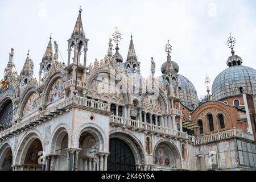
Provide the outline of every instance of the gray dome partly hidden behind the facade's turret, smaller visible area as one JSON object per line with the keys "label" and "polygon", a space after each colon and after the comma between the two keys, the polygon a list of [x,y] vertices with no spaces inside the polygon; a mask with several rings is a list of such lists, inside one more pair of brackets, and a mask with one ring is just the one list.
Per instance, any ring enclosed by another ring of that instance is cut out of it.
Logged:
{"label": "gray dome partly hidden behind the facade's turret, smaller visible area", "polygon": [[199,103],[195,86],[182,75],[178,76],[178,82],[181,103],[191,110],[195,109]]}

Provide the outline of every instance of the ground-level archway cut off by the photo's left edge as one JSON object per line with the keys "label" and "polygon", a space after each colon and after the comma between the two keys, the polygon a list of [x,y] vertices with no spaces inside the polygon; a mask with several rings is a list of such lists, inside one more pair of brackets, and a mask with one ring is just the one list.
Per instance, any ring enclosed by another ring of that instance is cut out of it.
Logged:
{"label": "ground-level archway cut off by the photo's left edge", "polygon": [[13,152],[9,144],[0,148],[0,171],[13,171]]}

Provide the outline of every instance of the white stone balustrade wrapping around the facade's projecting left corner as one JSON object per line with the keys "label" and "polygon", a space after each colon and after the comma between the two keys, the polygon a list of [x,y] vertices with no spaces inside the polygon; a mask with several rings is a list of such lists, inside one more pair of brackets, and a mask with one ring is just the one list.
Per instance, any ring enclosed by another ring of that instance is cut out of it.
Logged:
{"label": "white stone balustrade wrapping around the facade's projecting left corner", "polygon": [[91,108],[98,109],[101,111],[110,111],[110,104],[105,104],[102,102],[89,100],[88,98],[73,96],[63,102],[60,102],[60,104],[57,104],[53,107],[50,107],[49,109],[46,109],[46,110],[40,112],[39,114],[35,115],[34,117],[31,117],[29,119],[24,119],[23,121],[16,123],[9,129],[2,131],[0,133],[0,138],[12,133],[13,131],[22,129],[22,127],[25,127],[26,125],[29,125],[32,122],[38,121],[40,118],[46,117],[47,115],[51,115],[52,113],[54,113],[60,109],[64,109],[65,107],[70,106],[72,104],[76,104],[76,105],[84,106],[84,107],[91,107]]}

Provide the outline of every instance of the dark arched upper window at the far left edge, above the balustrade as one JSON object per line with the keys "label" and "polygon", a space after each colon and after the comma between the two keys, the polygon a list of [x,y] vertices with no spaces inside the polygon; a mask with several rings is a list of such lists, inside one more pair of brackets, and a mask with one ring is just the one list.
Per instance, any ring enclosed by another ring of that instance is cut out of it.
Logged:
{"label": "dark arched upper window at the far left edge, above the balustrade", "polygon": [[13,121],[13,102],[7,100],[0,107],[0,126],[8,127]]}

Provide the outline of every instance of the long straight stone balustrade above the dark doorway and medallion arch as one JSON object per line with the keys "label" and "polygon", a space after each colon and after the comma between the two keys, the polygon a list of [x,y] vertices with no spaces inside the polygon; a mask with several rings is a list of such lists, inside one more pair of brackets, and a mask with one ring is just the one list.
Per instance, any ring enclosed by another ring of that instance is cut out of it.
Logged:
{"label": "long straight stone balustrade above the dark doorway and medallion arch", "polygon": [[135,121],[135,120],[128,119],[128,118],[117,117],[115,115],[111,115],[110,122],[116,123],[119,125],[123,125],[125,127],[131,127],[134,129],[152,131],[152,132],[159,133],[159,134],[171,135],[173,137],[188,139],[191,142],[195,142],[195,138],[193,136],[189,136],[187,133],[177,131],[177,130],[168,129],[168,128],[162,127],[162,126],[156,126],[156,125],[152,125],[149,123],[144,123],[141,121]]}

